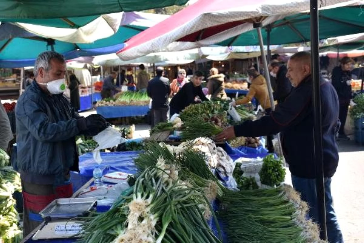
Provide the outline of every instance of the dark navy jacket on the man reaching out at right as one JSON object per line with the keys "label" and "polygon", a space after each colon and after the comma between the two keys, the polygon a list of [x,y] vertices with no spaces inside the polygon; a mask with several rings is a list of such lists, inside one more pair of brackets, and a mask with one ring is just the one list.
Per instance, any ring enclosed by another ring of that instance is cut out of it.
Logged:
{"label": "dark navy jacket on the man reaching out at right", "polygon": [[[321,119],[324,176],[332,177],[339,162],[335,135],[340,127],[339,101],[334,87],[321,81]],[[312,79],[305,78],[276,110],[257,121],[234,126],[237,137],[258,137],[281,132],[284,157],[292,175],[316,178],[313,156]]]}

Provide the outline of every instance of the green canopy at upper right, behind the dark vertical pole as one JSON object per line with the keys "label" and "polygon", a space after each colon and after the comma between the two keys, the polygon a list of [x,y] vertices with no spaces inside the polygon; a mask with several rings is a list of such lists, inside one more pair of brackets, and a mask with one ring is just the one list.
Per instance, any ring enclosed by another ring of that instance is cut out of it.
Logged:
{"label": "green canopy at upper right, behind the dark vertical pole", "polygon": [[[363,9],[361,6],[323,9],[318,12],[319,38],[327,39],[335,36],[350,35],[364,32]],[[270,44],[288,44],[310,41],[310,15],[298,13],[285,17],[263,27],[271,28]],[[267,31],[262,31],[264,44],[267,44]],[[254,46],[258,45],[256,30],[226,39],[221,46]]]}

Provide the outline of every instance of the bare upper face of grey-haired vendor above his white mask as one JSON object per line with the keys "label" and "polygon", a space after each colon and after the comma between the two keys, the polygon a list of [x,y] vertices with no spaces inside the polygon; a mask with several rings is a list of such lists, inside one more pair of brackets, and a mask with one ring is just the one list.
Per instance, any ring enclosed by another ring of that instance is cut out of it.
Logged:
{"label": "bare upper face of grey-haired vendor above his white mask", "polygon": [[57,79],[64,78],[66,74],[66,63],[60,62],[57,59],[51,59],[51,68],[46,71],[39,68],[37,82],[48,83]]}

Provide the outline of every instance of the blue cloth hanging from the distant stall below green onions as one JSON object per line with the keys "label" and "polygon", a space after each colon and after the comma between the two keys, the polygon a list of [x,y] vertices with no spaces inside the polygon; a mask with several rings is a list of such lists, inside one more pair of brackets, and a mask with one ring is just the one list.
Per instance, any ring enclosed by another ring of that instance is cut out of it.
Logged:
{"label": "blue cloth hanging from the distant stall below green onions", "polygon": [[97,114],[105,118],[134,117],[146,115],[149,106],[99,106],[96,108]]}

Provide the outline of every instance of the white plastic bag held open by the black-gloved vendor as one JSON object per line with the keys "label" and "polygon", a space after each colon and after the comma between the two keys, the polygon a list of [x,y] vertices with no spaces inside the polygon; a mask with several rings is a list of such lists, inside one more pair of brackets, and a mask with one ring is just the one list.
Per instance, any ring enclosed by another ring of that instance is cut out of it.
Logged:
{"label": "white plastic bag held open by the black-gloved vendor", "polygon": [[101,164],[101,156],[100,156],[100,149],[107,149],[112,148],[118,144],[122,144],[123,142],[126,142],[126,139],[121,136],[121,133],[119,130],[112,128],[109,126],[96,136],[92,137],[93,140],[95,140],[99,146],[95,148],[95,150],[92,152],[94,156],[94,160]]}

